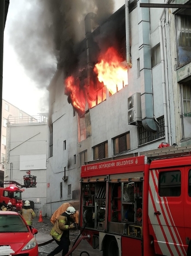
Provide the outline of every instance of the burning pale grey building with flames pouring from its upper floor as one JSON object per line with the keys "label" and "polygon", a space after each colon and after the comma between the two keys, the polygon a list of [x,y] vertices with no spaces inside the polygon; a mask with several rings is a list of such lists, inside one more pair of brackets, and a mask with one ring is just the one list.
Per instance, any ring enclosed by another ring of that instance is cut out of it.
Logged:
{"label": "burning pale grey building with flames pouring from its upper floor", "polygon": [[[170,2],[190,1],[165,1]],[[48,88],[49,216],[63,202],[78,200],[83,164],[132,156],[162,143],[191,143],[189,12],[141,8],[140,1],[130,0],[93,31],[88,24],[95,15],[85,17],[80,61],[71,70],[58,70]],[[115,71],[123,67],[119,82],[111,70],[111,79],[105,79],[105,64]]]}

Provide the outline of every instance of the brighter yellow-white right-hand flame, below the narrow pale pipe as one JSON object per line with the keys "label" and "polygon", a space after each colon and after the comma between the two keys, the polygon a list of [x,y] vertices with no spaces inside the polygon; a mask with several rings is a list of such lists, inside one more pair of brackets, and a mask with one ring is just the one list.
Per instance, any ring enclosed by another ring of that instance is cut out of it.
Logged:
{"label": "brighter yellow-white right-hand flame, below the narrow pale pipe", "polygon": [[110,47],[105,54],[100,56],[100,61],[94,67],[99,82],[103,82],[111,94],[118,92],[128,84],[127,67],[122,67],[122,61],[117,50]]}

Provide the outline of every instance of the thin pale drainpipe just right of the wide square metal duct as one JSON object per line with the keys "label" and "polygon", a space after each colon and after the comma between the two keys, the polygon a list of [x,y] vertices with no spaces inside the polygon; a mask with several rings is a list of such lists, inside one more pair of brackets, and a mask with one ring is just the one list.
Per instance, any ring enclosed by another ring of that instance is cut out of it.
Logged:
{"label": "thin pale drainpipe just right of the wide square metal duct", "polygon": [[[165,4],[168,3],[168,0],[165,1]],[[163,88],[163,108],[164,108],[164,123],[165,123],[165,142],[172,144],[172,135],[171,135],[171,126],[170,126],[170,107],[169,104],[166,104],[166,98],[169,95],[168,92],[168,77],[165,77],[165,62],[167,60],[166,56],[166,47],[165,47],[165,29],[164,27],[164,10],[159,18],[159,35],[160,35],[160,54],[161,54],[161,65],[162,65],[162,88]],[[163,19],[163,21],[162,21]],[[163,22],[163,24],[162,24]],[[164,60],[165,59],[165,60]],[[168,71],[166,71],[168,72]],[[167,75],[167,74],[166,74]],[[168,97],[169,98],[169,97]],[[169,126],[168,126],[169,125]]]}

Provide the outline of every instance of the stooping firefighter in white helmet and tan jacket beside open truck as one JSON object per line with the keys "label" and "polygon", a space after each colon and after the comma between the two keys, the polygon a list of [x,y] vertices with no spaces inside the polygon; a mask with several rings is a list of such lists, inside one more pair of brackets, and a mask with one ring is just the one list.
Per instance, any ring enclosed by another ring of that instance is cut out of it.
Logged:
{"label": "stooping firefighter in white helmet and tan jacket beside open truck", "polygon": [[74,229],[77,224],[74,222],[73,214],[76,213],[74,207],[69,206],[67,210],[59,215],[58,219],[55,222],[55,225],[52,227],[50,231],[50,235],[53,240],[56,241],[58,247],[56,247],[50,254],[47,256],[53,256],[62,251],[62,256],[68,253],[70,238],[69,238],[69,230]]}

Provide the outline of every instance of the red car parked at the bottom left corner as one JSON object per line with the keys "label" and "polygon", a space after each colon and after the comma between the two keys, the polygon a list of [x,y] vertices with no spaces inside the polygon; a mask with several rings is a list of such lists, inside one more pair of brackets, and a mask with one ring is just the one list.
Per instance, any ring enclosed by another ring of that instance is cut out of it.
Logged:
{"label": "red car parked at the bottom left corner", "polygon": [[1,246],[10,246],[15,252],[11,255],[38,256],[38,244],[34,237],[37,233],[37,229],[31,232],[19,213],[0,211],[0,254]]}

